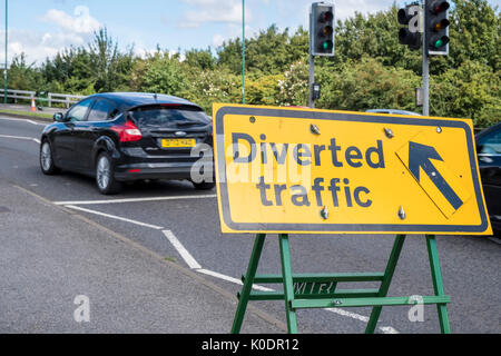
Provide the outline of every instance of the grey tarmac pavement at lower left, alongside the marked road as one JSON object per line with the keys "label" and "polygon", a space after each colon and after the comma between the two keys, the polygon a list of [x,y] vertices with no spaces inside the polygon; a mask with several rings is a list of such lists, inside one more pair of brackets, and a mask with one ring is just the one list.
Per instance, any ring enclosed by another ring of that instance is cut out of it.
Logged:
{"label": "grey tarmac pavement at lower left, alongside the marked road", "polygon": [[[237,299],[84,216],[0,180],[0,334],[226,334]],[[284,333],[249,305],[243,333]]]}

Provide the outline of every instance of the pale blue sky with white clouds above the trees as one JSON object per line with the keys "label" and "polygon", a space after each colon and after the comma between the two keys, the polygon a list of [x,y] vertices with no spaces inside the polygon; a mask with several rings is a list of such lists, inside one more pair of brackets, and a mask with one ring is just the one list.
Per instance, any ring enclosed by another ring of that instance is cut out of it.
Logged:
{"label": "pale blue sky with white clouds above the trees", "polygon": [[[40,63],[62,49],[86,46],[94,31],[106,27],[121,49],[134,44],[145,56],[163,50],[215,50],[223,41],[242,37],[242,0],[0,0],[0,61],[4,62],[8,1],[8,57],[23,52]],[[307,28],[312,0],[245,0],[246,37],[275,23],[294,32]],[[333,2],[326,0],[326,2]],[[337,0],[336,19],[355,11],[374,13],[400,0]],[[409,2],[409,1],[407,1]],[[500,7],[501,0],[490,0]],[[2,66],[3,67],[3,66]]]}

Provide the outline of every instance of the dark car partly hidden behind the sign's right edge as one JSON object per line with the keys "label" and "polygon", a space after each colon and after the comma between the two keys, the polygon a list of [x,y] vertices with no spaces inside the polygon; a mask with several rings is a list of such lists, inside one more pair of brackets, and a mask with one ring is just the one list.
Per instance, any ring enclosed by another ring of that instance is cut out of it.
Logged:
{"label": "dark car partly hidden behind the sign's right edge", "polygon": [[475,136],[483,194],[495,235],[501,235],[501,122]]}

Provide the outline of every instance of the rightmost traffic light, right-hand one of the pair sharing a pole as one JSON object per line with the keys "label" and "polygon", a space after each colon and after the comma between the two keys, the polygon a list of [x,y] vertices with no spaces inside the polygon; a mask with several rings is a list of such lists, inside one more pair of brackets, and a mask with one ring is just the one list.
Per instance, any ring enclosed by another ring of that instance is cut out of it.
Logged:
{"label": "rightmost traffic light, right-hand one of the pair sharing a pole", "polygon": [[429,56],[449,55],[449,24],[448,10],[450,8],[448,1],[428,0],[425,18],[425,46]]}

